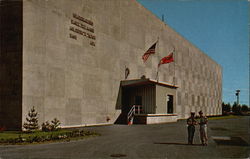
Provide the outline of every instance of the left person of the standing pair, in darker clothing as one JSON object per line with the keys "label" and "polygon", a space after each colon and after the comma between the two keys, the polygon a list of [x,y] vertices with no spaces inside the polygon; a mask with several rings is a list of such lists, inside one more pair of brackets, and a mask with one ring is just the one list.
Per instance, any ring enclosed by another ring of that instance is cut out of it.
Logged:
{"label": "left person of the standing pair, in darker clothing", "polygon": [[193,144],[194,139],[194,132],[195,132],[195,125],[197,125],[197,121],[194,117],[195,113],[191,112],[191,116],[187,119],[187,125],[188,125],[188,144]]}

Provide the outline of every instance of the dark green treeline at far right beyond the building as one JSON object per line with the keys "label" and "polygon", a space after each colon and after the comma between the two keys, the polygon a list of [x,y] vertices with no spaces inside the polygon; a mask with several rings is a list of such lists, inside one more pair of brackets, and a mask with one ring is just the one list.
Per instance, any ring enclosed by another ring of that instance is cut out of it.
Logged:
{"label": "dark green treeline at far right beyond the building", "polygon": [[222,114],[228,115],[228,114],[235,114],[235,115],[246,115],[250,111],[250,108],[243,104],[243,105],[237,105],[236,102],[234,102],[233,105],[230,103],[224,103],[222,102]]}

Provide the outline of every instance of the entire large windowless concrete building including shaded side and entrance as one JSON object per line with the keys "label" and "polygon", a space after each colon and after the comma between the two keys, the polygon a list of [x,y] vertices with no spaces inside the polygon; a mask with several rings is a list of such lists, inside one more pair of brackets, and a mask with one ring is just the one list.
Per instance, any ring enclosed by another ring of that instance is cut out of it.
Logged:
{"label": "entire large windowless concrete building including shaded side and entrance", "polygon": [[220,65],[135,0],[2,0],[0,18],[0,126],[20,129],[33,106],[63,127],[112,124],[131,105],[146,123],[221,114]]}

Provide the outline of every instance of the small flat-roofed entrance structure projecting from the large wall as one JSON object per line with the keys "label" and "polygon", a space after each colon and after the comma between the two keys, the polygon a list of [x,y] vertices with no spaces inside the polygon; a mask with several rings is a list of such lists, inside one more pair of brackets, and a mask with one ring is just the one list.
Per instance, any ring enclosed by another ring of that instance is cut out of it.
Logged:
{"label": "small flat-roofed entrance structure projecting from the large wall", "polygon": [[176,89],[178,86],[149,78],[121,81],[122,113],[130,114],[134,107],[135,123],[164,123],[177,120]]}

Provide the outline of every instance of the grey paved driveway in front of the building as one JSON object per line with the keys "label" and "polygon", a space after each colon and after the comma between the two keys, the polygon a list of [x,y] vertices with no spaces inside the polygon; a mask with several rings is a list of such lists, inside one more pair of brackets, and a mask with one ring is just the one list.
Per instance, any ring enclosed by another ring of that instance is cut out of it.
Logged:
{"label": "grey paved driveway in front of the building", "polygon": [[250,117],[210,120],[208,146],[200,145],[198,127],[194,145],[186,144],[184,120],[158,125],[90,127],[87,129],[102,136],[63,143],[0,146],[0,159],[248,158],[249,122]]}

